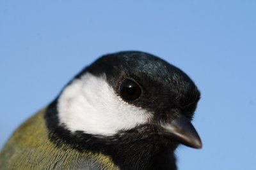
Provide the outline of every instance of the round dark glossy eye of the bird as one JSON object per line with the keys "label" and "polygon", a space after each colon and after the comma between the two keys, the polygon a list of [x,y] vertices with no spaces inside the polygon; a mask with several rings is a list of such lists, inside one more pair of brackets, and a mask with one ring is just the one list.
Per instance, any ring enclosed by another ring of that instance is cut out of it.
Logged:
{"label": "round dark glossy eye of the bird", "polygon": [[122,81],[119,90],[122,98],[127,101],[134,101],[141,95],[140,86],[134,81],[128,79]]}

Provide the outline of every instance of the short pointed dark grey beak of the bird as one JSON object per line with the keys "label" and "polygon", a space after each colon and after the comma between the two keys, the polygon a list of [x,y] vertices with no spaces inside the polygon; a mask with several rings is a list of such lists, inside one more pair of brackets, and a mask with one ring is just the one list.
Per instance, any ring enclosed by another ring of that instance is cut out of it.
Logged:
{"label": "short pointed dark grey beak of the bird", "polygon": [[161,127],[163,127],[164,135],[167,137],[191,148],[202,148],[202,141],[195,127],[184,115],[179,115],[171,123],[161,122]]}

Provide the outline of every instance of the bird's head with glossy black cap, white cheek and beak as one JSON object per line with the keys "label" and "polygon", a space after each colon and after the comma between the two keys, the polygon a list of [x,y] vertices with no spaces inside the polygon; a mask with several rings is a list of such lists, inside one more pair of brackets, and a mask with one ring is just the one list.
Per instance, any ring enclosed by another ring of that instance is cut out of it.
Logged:
{"label": "bird's head with glossy black cap, white cheek and beak", "polygon": [[68,83],[49,106],[47,125],[79,143],[90,135],[105,143],[125,138],[201,148],[191,124],[199,99],[195,83],[168,62],[143,52],[113,53]]}

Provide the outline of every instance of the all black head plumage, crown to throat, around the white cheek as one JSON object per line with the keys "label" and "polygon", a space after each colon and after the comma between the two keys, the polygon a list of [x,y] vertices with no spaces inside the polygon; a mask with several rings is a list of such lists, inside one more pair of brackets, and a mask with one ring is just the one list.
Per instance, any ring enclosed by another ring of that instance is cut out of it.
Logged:
{"label": "all black head plumage, crown to throat, around the white cheek", "polygon": [[[154,114],[154,120],[172,121],[177,115],[190,120],[200,99],[195,83],[179,68],[143,52],[105,55],[77,74],[106,74],[108,84],[124,101]],[[70,81],[71,83],[71,81]],[[79,152],[89,150],[109,155],[121,169],[176,169],[173,152],[178,143],[166,140],[154,124],[120,131],[113,136],[71,133],[60,125],[58,97],[45,113],[49,139]]]}

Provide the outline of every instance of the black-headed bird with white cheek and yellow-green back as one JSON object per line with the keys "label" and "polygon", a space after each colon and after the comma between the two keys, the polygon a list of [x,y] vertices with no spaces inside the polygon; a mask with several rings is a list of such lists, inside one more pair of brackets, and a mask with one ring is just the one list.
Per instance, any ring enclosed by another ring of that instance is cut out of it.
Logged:
{"label": "black-headed bird with white cheek and yellow-green back", "polygon": [[177,169],[179,145],[202,148],[191,124],[200,91],[150,53],[102,55],[13,132],[0,169]]}

